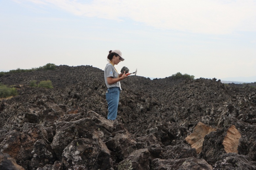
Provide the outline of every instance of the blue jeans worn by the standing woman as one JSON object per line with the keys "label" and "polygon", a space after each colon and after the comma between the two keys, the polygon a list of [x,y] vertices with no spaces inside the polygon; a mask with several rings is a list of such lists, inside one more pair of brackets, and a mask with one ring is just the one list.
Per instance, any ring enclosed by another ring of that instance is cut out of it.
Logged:
{"label": "blue jeans worn by the standing woman", "polygon": [[109,120],[115,120],[117,118],[119,95],[120,95],[119,87],[108,88],[108,93],[106,93],[106,100],[108,102],[108,119]]}

